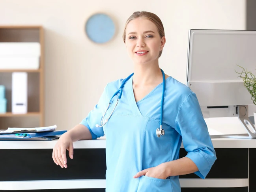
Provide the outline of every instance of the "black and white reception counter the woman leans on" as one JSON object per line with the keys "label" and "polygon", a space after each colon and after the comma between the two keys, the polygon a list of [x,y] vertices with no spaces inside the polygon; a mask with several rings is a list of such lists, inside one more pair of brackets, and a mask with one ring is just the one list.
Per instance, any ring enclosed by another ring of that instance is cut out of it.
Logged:
{"label": "black and white reception counter the woman leans on", "polygon": [[[256,191],[256,140],[212,139],[217,160],[206,179],[181,175],[182,192]],[[52,160],[53,141],[0,141],[0,192],[105,191],[105,138],[74,142],[67,168]],[[183,146],[180,157],[187,154]],[[68,155],[68,152],[67,152]]]}

